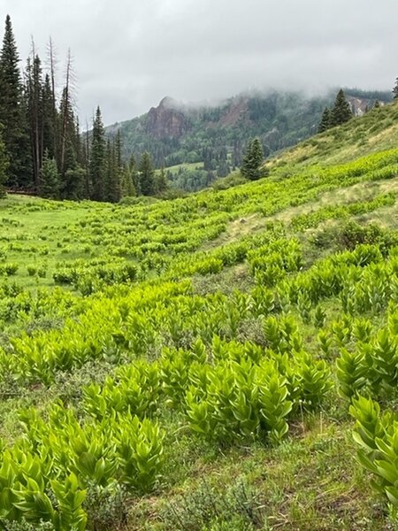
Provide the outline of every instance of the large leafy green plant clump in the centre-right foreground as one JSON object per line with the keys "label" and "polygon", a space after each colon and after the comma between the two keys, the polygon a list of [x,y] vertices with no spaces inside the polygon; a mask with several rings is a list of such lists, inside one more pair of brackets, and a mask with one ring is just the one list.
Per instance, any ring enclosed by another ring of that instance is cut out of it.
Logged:
{"label": "large leafy green plant clump in the centre-right foreground", "polygon": [[325,362],[303,352],[291,358],[268,352],[258,365],[243,358],[197,370],[186,396],[188,423],[197,434],[221,442],[253,435],[280,441],[287,419],[302,404],[317,407],[331,386]]}

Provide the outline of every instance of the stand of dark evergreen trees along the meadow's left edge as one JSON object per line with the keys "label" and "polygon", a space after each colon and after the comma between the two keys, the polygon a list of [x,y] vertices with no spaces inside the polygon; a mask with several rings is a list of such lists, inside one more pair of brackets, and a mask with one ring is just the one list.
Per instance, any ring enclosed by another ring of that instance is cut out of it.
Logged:
{"label": "stand of dark evergreen trees along the meadow's left edge", "polygon": [[[80,132],[73,102],[73,62],[68,52],[63,89],[57,97],[56,54],[48,46],[48,68],[34,42],[21,73],[11,18],[5,19],[0,50],[0,185],[57,199],[118,202],[123,196],[165,191],[148,152],[122,160],[120,133],[107,138],[99,107],[91,131]],[[87,126],[88,129],[88,126]]]}

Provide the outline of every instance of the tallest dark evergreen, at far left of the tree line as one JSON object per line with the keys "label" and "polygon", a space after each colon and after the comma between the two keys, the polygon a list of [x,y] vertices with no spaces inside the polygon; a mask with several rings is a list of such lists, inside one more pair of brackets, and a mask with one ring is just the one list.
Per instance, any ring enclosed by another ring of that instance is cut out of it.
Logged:
{"label": "tallest dark evergreen, at far left of the tree line", "polygon": [[3,47],[0,51],[0,122],[4,125],[4,144],[10,161],[8,184],[27,187],[32,183],[26,105],[19,73],[19,54],[11,19],[5,19]]}

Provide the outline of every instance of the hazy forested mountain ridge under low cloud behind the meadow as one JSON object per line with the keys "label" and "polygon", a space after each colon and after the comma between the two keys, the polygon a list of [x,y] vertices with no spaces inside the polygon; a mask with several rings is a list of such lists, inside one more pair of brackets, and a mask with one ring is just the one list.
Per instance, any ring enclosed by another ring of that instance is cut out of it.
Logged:
{"label": "hazy forested mountain ridge under low cloud behind the meadow", "polygon": [[[150,151],[157,167],[165,166],[175,187],[195,190],[208,186],[241,166],[250,138],[258,136],[264,156],[315,135],[322,112],[332,106],[337,89],[324,96],[270,91],[233,96],[217,105],[184,105],[166,96],[148,113],[106,128],[120,132],[124,157]],[[355,115],[376,101],[391,101],[390,92],[345,89]]]}

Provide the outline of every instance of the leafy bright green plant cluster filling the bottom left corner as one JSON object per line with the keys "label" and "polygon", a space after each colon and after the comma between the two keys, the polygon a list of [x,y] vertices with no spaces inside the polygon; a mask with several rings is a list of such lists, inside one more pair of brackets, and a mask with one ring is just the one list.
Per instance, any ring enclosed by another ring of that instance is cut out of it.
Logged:
{"label": "leafy bright green plant cluster filling the bottom left corner", "polygon": [[117,412],[103,421],[80,421],[55,404],[46,421],[20,414],[25,434],[2,452],[1,518],[49,521],[55,530],[88,525],[88,489],[127,492],[153,488],[163,461],[164,432],[149,419]]}

